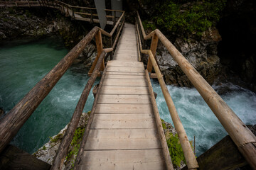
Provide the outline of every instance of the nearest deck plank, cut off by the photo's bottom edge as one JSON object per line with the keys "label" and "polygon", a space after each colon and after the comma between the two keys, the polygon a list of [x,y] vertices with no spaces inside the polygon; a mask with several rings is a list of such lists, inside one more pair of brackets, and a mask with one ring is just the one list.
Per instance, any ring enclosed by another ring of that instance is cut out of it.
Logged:
{"label": "nearest deck plank, cut off by the photo's bottom edge", "polygon": [[80,169],[166,169],[160,149],[86,151]]}

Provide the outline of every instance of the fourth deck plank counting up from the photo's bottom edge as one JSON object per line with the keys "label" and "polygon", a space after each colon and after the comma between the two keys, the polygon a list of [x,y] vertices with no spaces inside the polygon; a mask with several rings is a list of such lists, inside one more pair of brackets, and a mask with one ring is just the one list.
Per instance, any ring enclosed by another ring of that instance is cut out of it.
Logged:
{"label": "fourth deck plank counting up from the photo's bottom edge", "polygon": [[153,113],[151,104],[97,104],[95,113]]}

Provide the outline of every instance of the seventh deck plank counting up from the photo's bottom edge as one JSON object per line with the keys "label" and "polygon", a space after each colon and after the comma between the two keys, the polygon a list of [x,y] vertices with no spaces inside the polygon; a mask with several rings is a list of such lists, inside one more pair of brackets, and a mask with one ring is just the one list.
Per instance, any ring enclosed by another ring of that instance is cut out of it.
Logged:
{"label": "seventh deck plank counting up from the photo's bottom edge", "polygon": [[105,86],[147,86],[146,79],[105,79]]}

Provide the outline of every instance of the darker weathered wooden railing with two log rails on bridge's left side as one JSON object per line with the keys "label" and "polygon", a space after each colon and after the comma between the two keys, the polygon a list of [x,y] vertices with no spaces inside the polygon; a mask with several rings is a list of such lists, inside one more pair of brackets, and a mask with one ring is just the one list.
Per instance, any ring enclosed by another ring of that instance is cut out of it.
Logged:
{"label": "darker weathered wooden railing with two log rails on bridge's left side", "polygon": [[[97,58],[95,59],[95,62],[93,62],[94,66],[90,69],[92,72],[91,77],[87,81],[85,89],[82,91],[78,105],[76,106],[73,117],[68,125],[68,130],[65,132],[63,140],[60,143],[60,147],[55,156],[53,166],[51,167],[51,169],[61,169],[65,155],[68,152],[68,147],[73,139],[75,129],[78,126],[80,115],[82,114],[82,110],[87,101],[88,94],[92,88],[92,84],[95,82],[95,79],[100,72],[100,68],[105,67],[105,55],[107,52],[112,52],[114,47],[117,45],[119,34],[123,26],[124,11],[122,11],[122,16],[115,24],[111,33],[107,33],[105,30],[98,27],[92,28],[90,33],[88,33],[85,38],[75,45],[75,47],[73,47],[73,49],[70,50],[67,55],[65,55],[63,60],[60,60],[60,62],[58,62],[58,64],[56,64],[55,67],[53,67],[53,69],[50,70],[50,72],[46,74],[46,76],[43,77],[43,79],[41,79],[41,81],[39,81],[36,86],[31,89],[31,91],[28,92],[28,94],[26,94],[26,96],[24,96],[21,101],[19,101],[16,106],[14,106],[14,108],[12,108],[11,111],[9,111],[9,113],[7,113],[4,118],[0,120],[0,152],[2,152],[6,145],[11,142],[18,130],[23,126],[24,123],[26,123],[26,120],[28,120],[33,111],[36,110],[41,101],[43,101],[43,99],[46,98],[46,96],[50,93],[51,89],[53,89],[58,80],[67,71],[75,58],[80,55],[82,50],[85,49],[86,45],[92,40],[92,38],[95,37],[95,42],[97,45]],[[117,32],[117,34],[112,47],[103,49],[102,34],[112,38],[112,35],[115,32]]]}

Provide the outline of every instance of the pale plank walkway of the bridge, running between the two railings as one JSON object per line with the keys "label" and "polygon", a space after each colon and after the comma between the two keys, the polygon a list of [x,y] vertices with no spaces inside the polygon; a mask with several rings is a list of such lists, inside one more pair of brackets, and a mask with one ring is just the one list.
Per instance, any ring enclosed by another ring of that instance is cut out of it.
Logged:
{"label": "pale plank walkway of the bridge, running between the two railings", "polygon": [[107,63],[78,169],[166,169],[135,28],[125,23]]}

